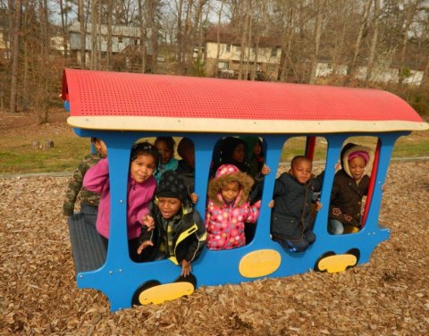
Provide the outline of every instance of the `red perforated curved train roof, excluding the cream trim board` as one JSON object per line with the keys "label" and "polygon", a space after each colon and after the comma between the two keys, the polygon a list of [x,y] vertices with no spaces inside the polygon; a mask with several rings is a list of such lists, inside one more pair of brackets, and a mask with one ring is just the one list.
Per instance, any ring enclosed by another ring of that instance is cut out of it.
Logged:
{"label": "red perforated curved train roof, excluding the cream trim board", "polygon": [[274,82],[66,69],[71,116],[422,122],[389,92]]}

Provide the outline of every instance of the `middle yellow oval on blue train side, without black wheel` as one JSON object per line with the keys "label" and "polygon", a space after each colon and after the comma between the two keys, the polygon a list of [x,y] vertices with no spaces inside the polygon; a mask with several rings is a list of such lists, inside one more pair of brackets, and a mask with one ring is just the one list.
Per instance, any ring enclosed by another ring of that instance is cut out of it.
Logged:
{"label": "middle yellow oval on blue train side, without black wheel", "polygon": [[241,258],[239,272],[246,278],[257,278],[275,272],[281,262],[282,256],[276,250],[259,249]]}

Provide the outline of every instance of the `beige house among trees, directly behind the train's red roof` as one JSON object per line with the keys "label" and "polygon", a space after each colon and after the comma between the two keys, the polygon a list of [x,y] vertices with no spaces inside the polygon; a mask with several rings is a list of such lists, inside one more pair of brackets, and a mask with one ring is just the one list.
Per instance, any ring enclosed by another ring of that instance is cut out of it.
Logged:
{"label": "beige house among trees, directly behind the train's red roof", "polygon": [[[240,37],[220,32],[219,41],[216,29],[210,29],[205,47],[206,76],[236,79],[240,71]],[[242,73],[248,73],[249,77],[255,71],[256,80],[277,80],[281,55],[282,49],[273,38],[260,37],[257,46],[245,48]]]}

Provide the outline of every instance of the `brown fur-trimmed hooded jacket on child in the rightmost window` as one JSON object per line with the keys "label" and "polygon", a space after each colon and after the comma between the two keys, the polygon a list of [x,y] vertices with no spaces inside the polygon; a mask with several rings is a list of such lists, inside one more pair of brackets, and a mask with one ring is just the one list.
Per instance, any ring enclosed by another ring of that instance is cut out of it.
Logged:
{"label": "brown fur-trimmed hooded jacket on child in the rightmost window", "polygon": [[[362,151],[369,155],[365,172],[360,181],[351,177],[348,157],[351,153]],[[329,206],[329,218],[343,224],[360,228],[362,198],[368,193],[369,176],[374,163],[374,151],[371,148],[348,144],[341,151],[341,170],[335,174]]]}

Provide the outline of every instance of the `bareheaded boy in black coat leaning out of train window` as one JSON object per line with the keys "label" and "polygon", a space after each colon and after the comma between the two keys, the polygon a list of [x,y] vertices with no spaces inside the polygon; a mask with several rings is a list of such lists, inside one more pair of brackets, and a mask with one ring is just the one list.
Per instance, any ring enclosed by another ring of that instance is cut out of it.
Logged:
{"label": "bareheaded boy in black coat leaning out of train window", "polygon": [[[312,168],[309,158],[295,156],[290,171],[275,180],[271,234],[273,240],[290,252],[305,251],[315,242],[311,231],[311,203],[314,192],[322,187],[323,174],[313,178]],[[319,208],[320,205],[316,205],[316,210]]]}

